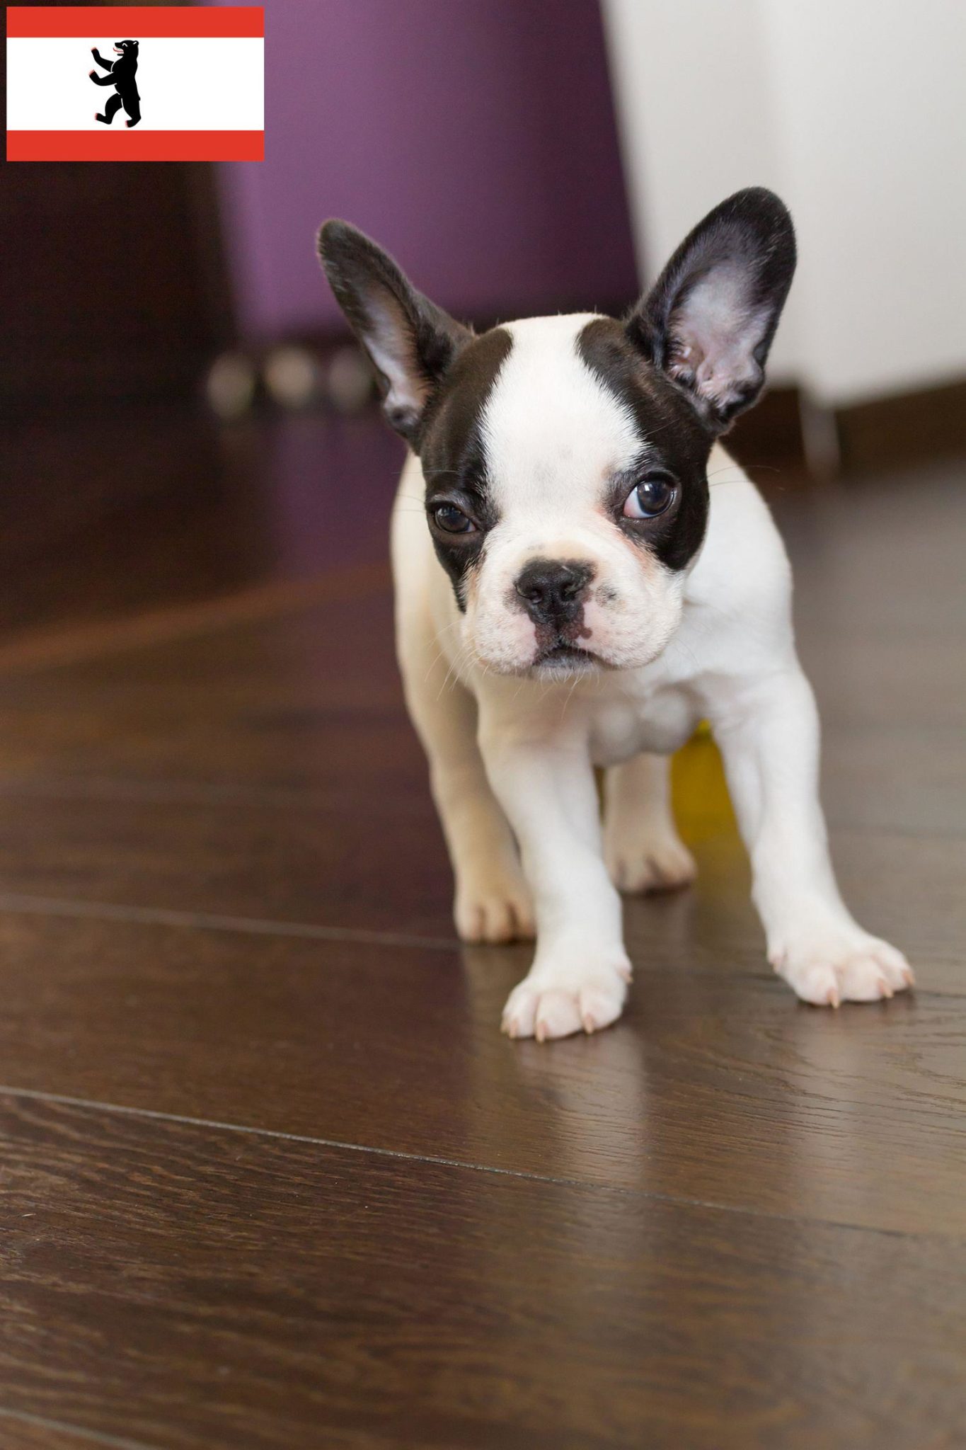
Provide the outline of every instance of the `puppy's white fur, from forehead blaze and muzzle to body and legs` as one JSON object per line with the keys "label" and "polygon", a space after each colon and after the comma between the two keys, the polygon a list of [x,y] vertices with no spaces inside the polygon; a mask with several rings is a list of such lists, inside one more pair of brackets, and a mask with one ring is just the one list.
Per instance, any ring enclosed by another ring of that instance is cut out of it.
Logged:
{"label": "puppy's white fur, from forehead blaze and muzzle to body and legs", "polygon": [[[694,874],[659,757],[707,718],[752,857],[769,960],[808,1002],[891,996],[912,980],[910,967],[856,925],[833,877],[818,721],[770,515],[717,445],[708,532],[689,573],[623,538],[600,497],[640,442],[575,351],[587,320],[510,325],[513,349],[485,413],[501,519],[465,615],[432,548],[416,458],[394,512],[398,654],[456,874],[458,929],[503,941],[536,927],[533,967],[504,1011],[511,1037],[613,1022],[630,979],[614,880],[649,889]],[[534,628],[511,584],[534,555],[592,560],[591,648],[618,668],[526,673]],[[604,826],[594,766],[608,767]]]}

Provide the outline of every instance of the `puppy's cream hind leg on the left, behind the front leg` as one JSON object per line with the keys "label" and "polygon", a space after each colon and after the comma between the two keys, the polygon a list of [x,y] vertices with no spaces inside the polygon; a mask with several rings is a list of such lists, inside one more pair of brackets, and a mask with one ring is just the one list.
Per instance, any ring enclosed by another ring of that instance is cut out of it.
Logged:
{"label": "puppy's cream hind leg on the left, behind the front leg", "polygon": [[533,937],[533,903],[517,844],[476,745],[476,705],[459,682],[448,679],[429,609],[400,619],[398,654],[406,703],[429,758],[456,877],[456,931],[463,941]]}

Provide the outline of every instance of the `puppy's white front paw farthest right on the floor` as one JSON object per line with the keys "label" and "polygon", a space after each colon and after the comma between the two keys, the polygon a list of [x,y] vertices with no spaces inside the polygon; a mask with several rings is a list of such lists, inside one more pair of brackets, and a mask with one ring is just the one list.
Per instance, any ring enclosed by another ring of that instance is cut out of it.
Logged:
{"label": "puppy's white front paw farthest right on the floor", "polygon": [[902,953],[859,928],[817,941],[794,938],[769,960],[802,1002],[815,1006],[879,1002],[915,985]]}

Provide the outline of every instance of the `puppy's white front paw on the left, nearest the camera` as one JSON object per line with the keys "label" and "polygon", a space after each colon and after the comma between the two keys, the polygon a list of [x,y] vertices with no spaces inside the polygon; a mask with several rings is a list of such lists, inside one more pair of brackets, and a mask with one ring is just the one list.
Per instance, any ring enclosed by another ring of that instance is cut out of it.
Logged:
{"label": "puppy's white front paw on the left, nearest the camera", "polygon": [[630,963],[627,957],[589,956],[579,966],[537,966],[520,982],[503,1009],[507,1037],[536,1037],[546,1043],[572,1032],[598,1032],[616,1022],[624,1008]]}

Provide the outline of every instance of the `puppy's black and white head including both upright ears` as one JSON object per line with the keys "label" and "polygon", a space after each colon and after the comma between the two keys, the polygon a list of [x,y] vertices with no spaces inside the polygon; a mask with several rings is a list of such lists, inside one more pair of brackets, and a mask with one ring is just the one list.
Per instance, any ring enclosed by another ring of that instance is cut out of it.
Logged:
{"label": "puppy's black and white head including both upright ears", "polygon": [[623,322],[475,335],[348,223],[327,222],[319,249],[420,457],[466,650],[543,677],[653,660],[704,538],[711,444],[762,389],[795,268],[778,197],[715,207]]}

